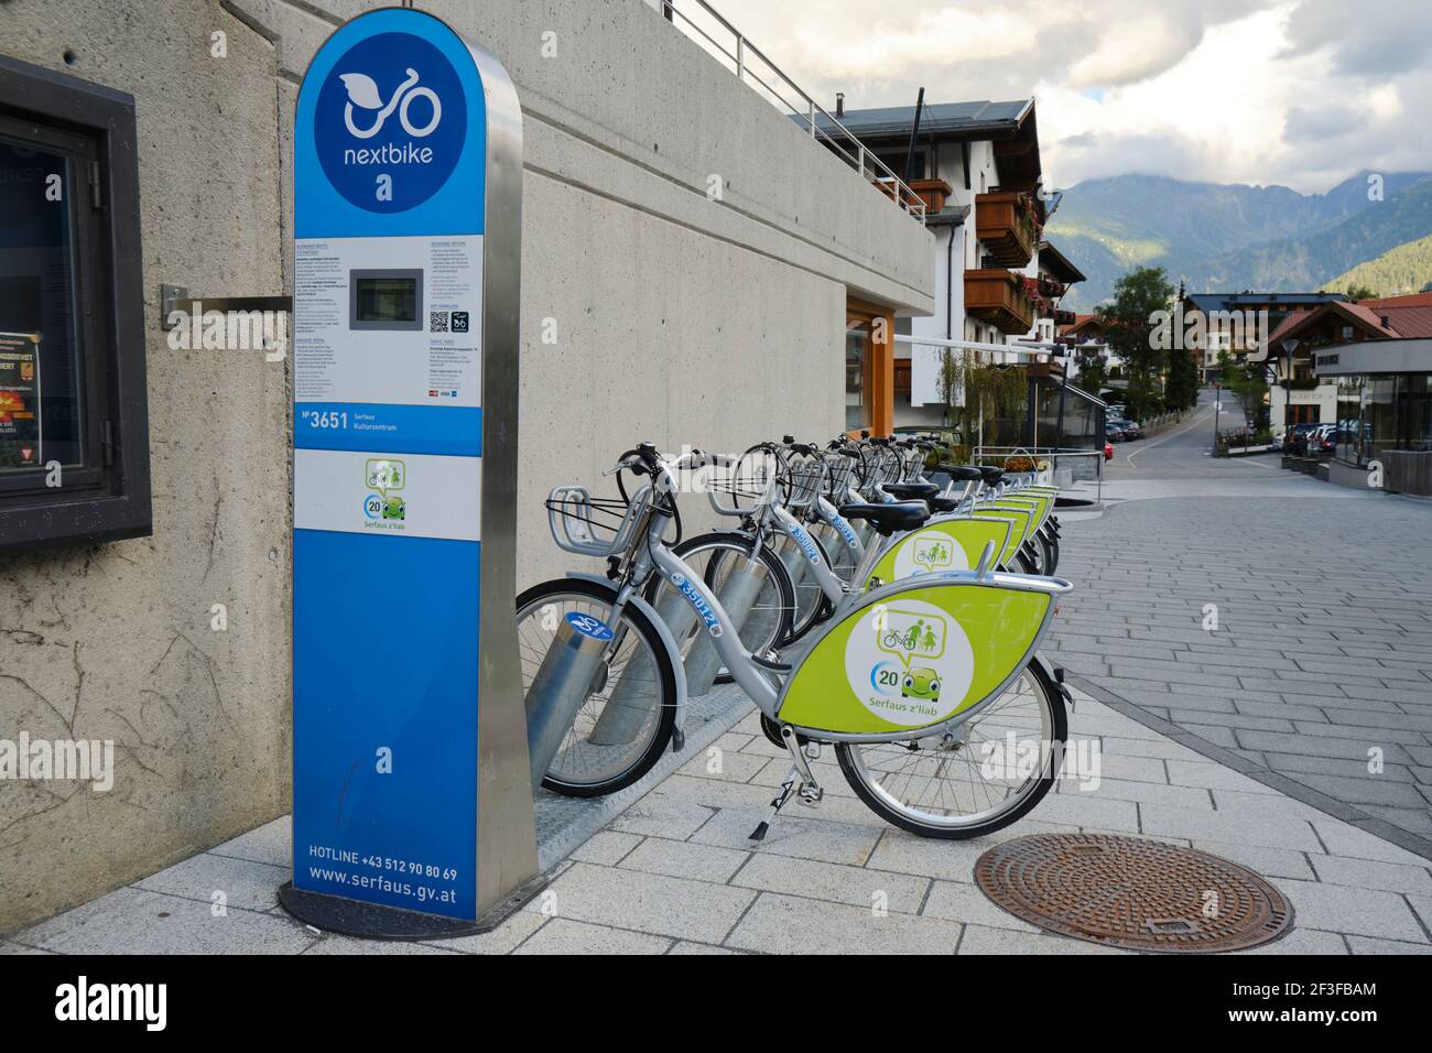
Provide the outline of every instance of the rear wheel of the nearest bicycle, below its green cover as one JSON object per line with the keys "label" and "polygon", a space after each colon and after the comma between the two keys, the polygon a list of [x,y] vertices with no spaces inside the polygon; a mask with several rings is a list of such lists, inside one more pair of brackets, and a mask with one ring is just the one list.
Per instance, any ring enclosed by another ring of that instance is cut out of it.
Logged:
{"label": "rear wheel of the nearest bicycle, below its green cover", "polygon": [[886,822],[961,840],[1027,815],[1054,785],[1067,734],[1064,696],[1031,662],[954,735],[842,742],[835,755],[851,789]]}

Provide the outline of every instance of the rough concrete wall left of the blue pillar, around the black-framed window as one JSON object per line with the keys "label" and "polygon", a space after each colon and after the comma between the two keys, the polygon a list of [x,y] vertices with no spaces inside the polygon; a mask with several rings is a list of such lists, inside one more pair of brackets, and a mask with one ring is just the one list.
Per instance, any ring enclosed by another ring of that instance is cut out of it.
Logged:
{"label": "rough concrete wall left of the blue pillar, around the black-framed window", "polygon": [[284,292],[274,47],[215,4],[11,0],[0,52],[136,100],[155,521],[0,556],[0,738],[116,744],[109,792],[0,782],[6,930],[288,808],[289,388],[261,352],[170,351],[158,304]]}

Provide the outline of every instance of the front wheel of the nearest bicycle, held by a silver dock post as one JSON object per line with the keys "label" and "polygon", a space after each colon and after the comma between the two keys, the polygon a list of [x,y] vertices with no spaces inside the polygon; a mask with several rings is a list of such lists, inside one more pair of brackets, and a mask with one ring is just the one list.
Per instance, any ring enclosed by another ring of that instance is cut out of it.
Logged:
{"label": "front wheel of the nearest bicycle, held by a silver dock post", "polygon": [[609,587],[581,579],[543,582],[517,597],[524,699],[567,615],[590,615],[613,632],[587,698],[543,778],[543,787],[567,797],[630,787],[657,762],[676,726],[676,670],[666,646],[633,606],[613,623],[613,599]]}

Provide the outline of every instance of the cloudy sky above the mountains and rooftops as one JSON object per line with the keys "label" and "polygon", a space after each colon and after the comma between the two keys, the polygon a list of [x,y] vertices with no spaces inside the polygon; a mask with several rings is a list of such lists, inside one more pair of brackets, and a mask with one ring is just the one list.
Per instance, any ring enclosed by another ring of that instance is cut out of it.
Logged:
{"label": "cloudy sky above the mountains and rooftops", "polygon": [[[680,0],[679,4],[680,6]],[[1038,102],[1054,185],[1432,170],[1432,0],[713,0],[835,109]]]}

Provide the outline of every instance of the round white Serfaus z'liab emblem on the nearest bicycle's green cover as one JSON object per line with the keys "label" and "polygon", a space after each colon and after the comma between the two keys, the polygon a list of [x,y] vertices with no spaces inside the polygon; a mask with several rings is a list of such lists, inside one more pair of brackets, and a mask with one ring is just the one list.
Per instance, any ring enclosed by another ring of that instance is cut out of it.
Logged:
{"label": "round white Serfaus z'liab emblem on the nearest bicycle's green cover", "polygon": [[974,652],[959,623],[939,607],[914,599],[879,603],[846,640],[845,675],[866,709],[915,728],[964,701],[974,679]]}

